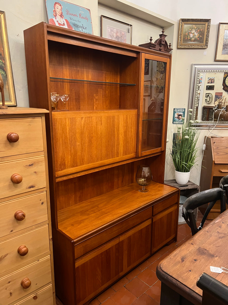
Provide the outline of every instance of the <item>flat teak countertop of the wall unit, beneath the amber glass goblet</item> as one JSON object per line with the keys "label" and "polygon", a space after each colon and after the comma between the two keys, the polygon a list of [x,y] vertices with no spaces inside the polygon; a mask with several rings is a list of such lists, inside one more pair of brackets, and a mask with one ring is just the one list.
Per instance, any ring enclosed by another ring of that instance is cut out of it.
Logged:
{"label": "flat teak countertop of the wall unit, beneath the amber glass goblet", "polygon": [[154,181],[147,186],[147,193],[139,192],[139,188],[135,182],[59,210],[58,229],[74,241],[86,239],[87,235],[95,235],[100,228],[109,228],[134,213],[178,193],[178,189]]}

